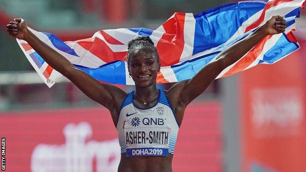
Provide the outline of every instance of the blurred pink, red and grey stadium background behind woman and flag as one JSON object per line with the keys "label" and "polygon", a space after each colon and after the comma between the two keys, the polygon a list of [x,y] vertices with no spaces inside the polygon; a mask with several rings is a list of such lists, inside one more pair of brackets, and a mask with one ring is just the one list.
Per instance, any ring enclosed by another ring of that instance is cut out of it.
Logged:
{"label": "blurred pink, red and grey stadium background behind woman and flag", "polygon": [[[6,171],[116,172],[120,158],[107,110],[65,78],[49,89],[6,33],[9,21],[22,17],[35,30],[68,41],[100,29],[156,28],[174,12],[199,13],[232,1],[0,0]],[[306,172],[305,10],[301,14],[295,33],[300,50],[274,65],[214,81],[187,108],[174,172]]]}

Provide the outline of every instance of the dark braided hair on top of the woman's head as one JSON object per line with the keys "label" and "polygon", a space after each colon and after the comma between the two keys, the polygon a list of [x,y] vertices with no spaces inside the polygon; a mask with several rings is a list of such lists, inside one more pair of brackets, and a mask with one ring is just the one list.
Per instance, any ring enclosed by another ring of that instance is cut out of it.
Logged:
{"label": "dark braided hair on top of the woman's head", "polygon": [[134,56],[139,49],[144,49],[152,52],[154,58],[156,57],[157,62],[159,63],[159,56],[157,53],[157,49],[154,47],[152,39],[148,36],[141,36],[128,42],[128,55],[127,55],[128,65],[131,57]]}

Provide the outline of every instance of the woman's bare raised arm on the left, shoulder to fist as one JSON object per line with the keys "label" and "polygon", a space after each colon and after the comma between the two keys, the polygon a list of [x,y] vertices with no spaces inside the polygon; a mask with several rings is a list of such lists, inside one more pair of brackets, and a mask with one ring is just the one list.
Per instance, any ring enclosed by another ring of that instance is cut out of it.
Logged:
{"label": "woman's bare raised arm on the left, shoulder to fist", "polygon": [[101,84],[88,74],[78,70],[70,61],[28,30],[24,20],[14,20],[15,22],[10,22],[7,25],[7,31],[11,36],[25,40],[53,69],[71,80],[89,98],[102,104],[110,111],[120,106],[127,95],[123,90],[112,85]]}

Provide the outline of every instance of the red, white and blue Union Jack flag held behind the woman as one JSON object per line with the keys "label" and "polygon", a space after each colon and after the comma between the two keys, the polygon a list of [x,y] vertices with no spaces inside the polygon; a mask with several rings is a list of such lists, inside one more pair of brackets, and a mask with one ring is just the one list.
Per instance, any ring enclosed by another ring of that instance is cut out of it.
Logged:
{"label": "red, white and blue Union Jack flag held behind the woman", "polygon": [[[272,16],[284,16],[285,32],[269,35],[217,78],[247,70],[257,64],[273,64],[299,44],[293,35],[295,18],[305,0],[257,0],[226,4],[200,14],[175,13],[155,30],[147,28],[106,29],[91,38],[62,42],[55,35],[29,28],[40,40],[66,57],[78,69],[101,82],[133,85],[128,77],[128,42],[149,36],[159,53],[161,70],[157,83],[190,79],[224,49],[245,38]],[[61,76],[26,41],[17,40],[27,59],[51,87]]]}

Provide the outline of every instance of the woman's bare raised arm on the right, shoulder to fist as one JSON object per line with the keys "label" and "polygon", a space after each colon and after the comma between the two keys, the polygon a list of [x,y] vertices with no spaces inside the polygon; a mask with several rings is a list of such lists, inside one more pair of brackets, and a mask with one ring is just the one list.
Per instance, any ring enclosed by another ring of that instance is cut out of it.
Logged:
{"label": "woman's bare raised arm on the right, shoulder to fist", "polygon": [[255,32],[221,52],[215,61],[207,64],[193,78],[174,85],[167,93],[168,97],[171,97],[171,104],[180,109],[184,108],[202,94],[224,69],[239,60],[265,36],[281,33],[285,28],[286,22],[283,17],[272,17]]}

